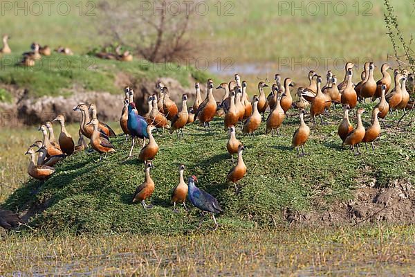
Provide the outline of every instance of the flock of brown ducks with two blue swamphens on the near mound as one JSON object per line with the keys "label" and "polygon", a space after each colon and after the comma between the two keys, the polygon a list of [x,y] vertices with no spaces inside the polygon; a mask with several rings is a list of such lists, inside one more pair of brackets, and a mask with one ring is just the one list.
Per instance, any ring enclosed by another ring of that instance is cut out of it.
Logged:
{"label": "flock of brown ducks with two blue swamphens on the near mound", "polygon": [[[382,64],[382,78],[376,82],[374,80],[374,66],[369,62],[365,64],[365,71],[362,73],[362,81],[354,85],[352,82],[353,68],[355,65],[348,62],[345,65],[345,76],[343,82],[337,84],[337,78],[329,71],[326,75],[326,84],[322,87],[322,78],[315,71],[308,73],[308,87],[299,87],[297,89],[298,100],[294,101],[291,96],[291,88],[295,86],[291,78],[286,78],[282,82],[279,74],[275,75],[275,84],[271,86],[271,91],[266,96],[264,88],[269,87],[266,82],[259,82],[258,95],[248,98],[246,92],[247,83],[241,82],[238,74],[234,75],[234,80],[228,83],[219,84],[216,89],[224,91],[221,101],[216,102],[213,95],[214,84],[212,79],[207,82],[207,95],[203,99],[201,96],[201,86],[195,84],[196,99],[192,107],[187,107],[187,95],[182,96],[181,109],[178,109],[176,103],[170,99],[169,89],[158,82],[156,88],[158,93],[149,96],[147,100],[147,114],[139,114],[136,109],[133,96],[134,91],[130,87],[125,87],[124,107],[120,117],[120,127],[126,136],[131,137],[131,149],[127,159],[132,157],[133,148],[137,139],[142,140],[142,146],[138,159],[145,164],[145,180],[138,186],[133,196],[133,202],[140,202],[144,208],[150,205],[145,200],[154,193],[155,183],[151,179],[151,169],[154,168],[153,161],[158,154],[159,146],[152,135],[154,129],[169,129],[170,134],[176,131],[178,138],[183,136],[183,128],[194,122],[199,122],[203,127],[210,127],[213,118],[220,116],[223,118],[223,128],[229,132],[229,139],[226,149],[232,157],[234,163],[234,154],[237,154],[237,163],[230,169],[226,180],[234,184],[235,190],[238,192],[238,182],[246,175],[247,167],[243,161],[243,144],[237,139],[237,129],[242,134],[248,134],[250,138],[255,139],[255,132],[264,120],[266,122],[266,134],[274,132],[279,134],[279,128],[282,127],[287,112],[290,109],[298,109],[299,127],[295,130],[292,138],[293,148],[297,148],[299,157],[304,156],[304,145],[308,140],[311,128],[306,124],[304,117],[310,114],[311,121],[317,124],[317,117],[320,117],[322,124],[324,120],[322,115],[331,107],[335,109],[335,105],[342,105],[343,120],[338,126],[338,135],[342,140],[342,145],[350,145],[351,150],[355,153],[355,147],[360,154],[360,143],[371,143],[374,150],[374,141],[381,132],[380,119],[387,116],[388,113],[394,113],[398,110],[411,109],[414,102],[410,101],[410,95],[406,89],[405,82],[407,78],[413,81],[413,75],[409,75],[408,71],[394,71],[394,89],[391,89],[392,77],[387,70],[391,69],[389,64]],[[362,123],[362,114],[365,109],[358,108],[359,102],[364,102],[367,98],[372,101],[380,98],[380,101],[371,111],[371,125],[365,129]],[[265,111],[269,107],[270,113],[265,118]],[[308,109],[309,111],[306,111]],[[349,111],[356,109],[357,124],[353,128],[349,121]],[[71,134],[68,134],[65,128],[65,118],[62,115],[57,116],[52,122],[47,122],[39,131],[42,132],[42,141],[36,141],[26,154],[30,154],[30,163],[28,166],[28,174],[35,179],[45,180],[55,172],[55,164],[62,161],[65,157],[76,152],[80,152],[88,148],[86,139],[90,140],[93,150],[102,155],[108,152],[116,152],[111,144],[111,137],[116,136],[111,127],[101,122],[97,118],[97,107],[94,104],[86,105],[84,103],[77,105],[73,109],[81,114],[79,140],[75,145]],[[52,123],[59,123],[61,132],[58,139],[55,139]],[[38,148],[35,151],[35,148]],[[300,153],[301,148],[301,153]],[[38,154],[37,159],[35,154]],[[215,214],[222,211],[217,200],[209,193],[199,190],[195,186],[197,178],[190,177],[187,184],[183,174],[185,166],[178,168],[179,182],[172,190],[172,204],[176,211],[176,204],[183,204],[188,197],[190,202],[212,215],[217,227]],[[186,208],[186,206],[185,206]]]}

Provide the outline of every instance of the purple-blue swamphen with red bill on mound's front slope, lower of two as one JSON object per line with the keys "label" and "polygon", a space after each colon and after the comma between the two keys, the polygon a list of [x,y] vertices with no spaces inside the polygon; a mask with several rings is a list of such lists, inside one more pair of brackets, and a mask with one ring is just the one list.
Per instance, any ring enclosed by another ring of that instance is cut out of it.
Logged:
{"label": "purple-blue swamphen with red bill on mound's front slope, lower of two", "polygon": [[[187,181],[187,185],[189,187],[189,200],[193,204],[193,206],[199,208],[199,210],[202,211],[202,216],[203,212],[208,212],[210,213],[210,215],[212,215],[215,225],[214,229],[217,229],[218,222],[216,222],[216,218],[214,217],[214,215],[223,212],[223,210],[215,197],[196,187],[196,185],[194,184],[195,181],[197,181],[197,178],[194,175],[192,177],[189,177],[189,180]],[[201,219],[199,226],[201,226],[202,220],[203,217]]]}

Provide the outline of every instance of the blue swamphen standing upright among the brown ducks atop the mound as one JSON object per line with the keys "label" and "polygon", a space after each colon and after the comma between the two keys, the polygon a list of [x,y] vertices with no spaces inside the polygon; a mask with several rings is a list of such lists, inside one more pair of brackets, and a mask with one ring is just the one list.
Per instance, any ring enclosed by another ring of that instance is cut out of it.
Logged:
{"label": "blue swamphen standing upright among the brown ducks atop the mound", "polygon": [[147,121],[138,114],[136,104],[134,102],[129,102],[128,105],[127,127],[131,134],[131,150],[128,156],[131,157],[136,143],[136,138],[142,139],[142,147],[145,145],[145,139],[149,138],[149,134],[147,133]]}

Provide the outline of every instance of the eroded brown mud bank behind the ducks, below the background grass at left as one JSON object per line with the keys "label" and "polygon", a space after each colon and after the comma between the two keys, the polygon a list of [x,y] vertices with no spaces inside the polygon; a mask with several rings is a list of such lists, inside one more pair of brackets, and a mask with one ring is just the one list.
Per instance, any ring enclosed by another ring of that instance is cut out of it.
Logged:
{"label": "eroded brown mud bank behind the ducks, below the background grass at left", "polygon": [[[28,97],[28,91],[12,85],[0,85],[13,96],[12,103],[0,102],[0,126],[34,125],[51,120],[57,114],[64,114],[67,122],[77,122],[80,114],[73,111],[73,107],[84,103],[95,103],[98,107],[98,117],[104,121],[119,120],[124,94],[122,87],[129,85],[135,91],[134,101],[140,113],[147,113],[147,98],[158,93],[156,83],[162,81],[169,87],[171,98],[180,107],[181,96],[187,93],[189,105],[194,101],[195,90],[191,87],[183,87],[180,82],[172,78],[159,78],[158,80],[134,81],[129,78],[118,78],[119,94],[111,94],[107,91],[84,91],[82,88],[73,87],[63,91],[65,96],[44,96],[41,98]],[[190,80],[194,84],[194,80]],[[205,97],[205,86],[202,84],[202,97]],[[222,93],[222,91],[217,91]],[[216,97],[219,97],[217,95]],[[221,97],[221,95],[220,95]]]}

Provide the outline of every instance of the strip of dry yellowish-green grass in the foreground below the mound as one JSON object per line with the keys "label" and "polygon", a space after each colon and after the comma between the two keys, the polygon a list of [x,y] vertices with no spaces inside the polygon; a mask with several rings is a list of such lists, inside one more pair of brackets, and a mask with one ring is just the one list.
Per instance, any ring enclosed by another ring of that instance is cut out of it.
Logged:
{"label": "strip of dry yellowish-green grass in the foreground below the mound", "polygon": [[0,271],[93,276],[409,276],[414,226],[284,228],[203,235],[21,235]]}

